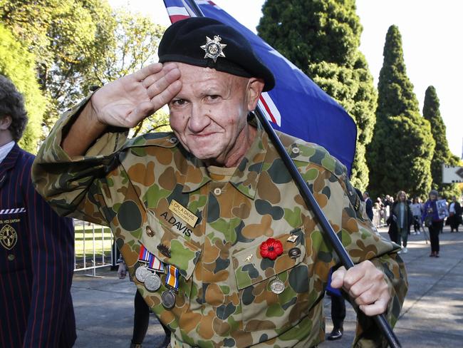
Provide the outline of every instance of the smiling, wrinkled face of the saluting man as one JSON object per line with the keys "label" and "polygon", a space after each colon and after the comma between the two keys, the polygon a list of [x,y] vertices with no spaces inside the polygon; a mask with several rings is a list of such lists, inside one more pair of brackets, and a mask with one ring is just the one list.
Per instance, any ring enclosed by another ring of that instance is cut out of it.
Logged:
{"label": "smiling, wrinkled face of the saluting man", "polygon": [[225,163],[246,141],[246,116],[257,101],[250,87],[252,79],[177,65],[182,89],[168,104],[170,126],[194,156]]}

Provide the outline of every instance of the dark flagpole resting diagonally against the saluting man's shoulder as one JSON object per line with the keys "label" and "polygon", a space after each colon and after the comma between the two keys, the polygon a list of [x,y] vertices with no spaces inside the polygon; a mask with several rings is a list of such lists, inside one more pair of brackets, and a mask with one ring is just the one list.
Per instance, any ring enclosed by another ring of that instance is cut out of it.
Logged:
{"label": "dark flagpole resting diagonally against the saluting man's shoulder", "polygon": [[[199,9],[199,6],[196,4],[194,0],[187,0],[187,2],[192,7],[192,10],[198,17],[204,17],[204,14],[202,14],[201,9]],[[283,144],[278,138],[278,135],[276,135],[274,128],[272,128],[272,126],[269,123],[269,120],[267,120],[267,118],[264,116],[264,113],[261,112],[259,106],[257,106],[256,115],[257,118],[259,118],[259,121],[261,122],[262,126],[264,127],[264,131],[266,131],[266,133],[269,135],[271,142],[274,144],[276,150],[281,156],[281,159],[283,160],[283,163],[286,165],[286,168],[291,174],[291,177],[296,182],[296,185],[298,186],[303,200],[306,202],[308,208],[312,210],[313,215],[315,215],[318,222],[320,222],[323,232],[325,232],[326,237],[328,237],[328,240],[330,240],[331,245],[333,245],[333,249],[338,254],[343,266],[346,268],[346,270],[348,270],[351,267],[354,267],[354,263],[350,259],[348,252],[345,250],[344,245],[340,242],[338,235],[336,235],[335,231],[333,230],[333,227],[331,227],[325,214],[323,214],[320,205],[318,205],[317,201],[313,197],[311,190],[308,189],[308,186],[306,182],[303,180],[301,173],[298,172],[296,165],[293,163],[293,160],[291,160],[291,157],[289,157],[288,153],[286,152],[286,149],[284,148]],[[402,347],[394,332],[392,332],[392,328],[387,322],[384,314],[375,315],[373,316],[373,319],[380,328],[380,331],[387,339],[387,342],[389,343],[390,347]]]}

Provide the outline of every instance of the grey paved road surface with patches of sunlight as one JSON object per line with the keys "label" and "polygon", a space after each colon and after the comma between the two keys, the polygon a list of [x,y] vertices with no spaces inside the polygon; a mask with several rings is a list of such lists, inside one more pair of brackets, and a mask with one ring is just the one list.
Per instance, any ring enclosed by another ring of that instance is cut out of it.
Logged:
{"label": "grey paved road surface with patches of sunlight", "polygon": [[[382,230],[381,232],[385,232]],[[440,235],[439,259],[429,257],[430,245],[423,235],[411,235],[409,252],[402,255],[410,281],[405,305],[395,333],[402,347],[463,347],[463,232]],[[119,280],[116,272],[98,270],[103,277],[87,277],[82,272],[73,280],[78,339],[75,347],[127,348],[132,337],[135,286]],[[331,331],[329,297],[325,300],[326,329]],[[348,305],[344,337],[324,342],[321,348],[350,347],[355,329],[355,313]],[[163,330],[151,315],[143,347],[157,347]]]}

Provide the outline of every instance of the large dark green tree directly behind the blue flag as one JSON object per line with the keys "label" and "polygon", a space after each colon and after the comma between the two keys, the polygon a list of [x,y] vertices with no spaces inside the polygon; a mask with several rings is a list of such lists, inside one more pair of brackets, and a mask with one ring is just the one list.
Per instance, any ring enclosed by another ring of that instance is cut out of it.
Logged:
{"label": "large dark green tree directly behind the blue flag", "polygon": [[[365,146],[375,124],[377,94],[360,51],[362,26],[354,0],[267,0],[259,36],[335,98],[358,128],[352,181],[368,185]],[[329,136],[329,135],[327,135]]]}

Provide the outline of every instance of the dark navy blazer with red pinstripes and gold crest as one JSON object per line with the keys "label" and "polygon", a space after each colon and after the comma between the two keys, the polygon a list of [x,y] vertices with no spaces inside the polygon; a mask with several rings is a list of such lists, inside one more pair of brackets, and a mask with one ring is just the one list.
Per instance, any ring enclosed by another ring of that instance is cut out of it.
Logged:
{"label": "dark navy blazer with red pinstripes and gold crest", "polygon": [[74,229],[31,182],[17,144],[0,163],[0,347],[72,347]]}

